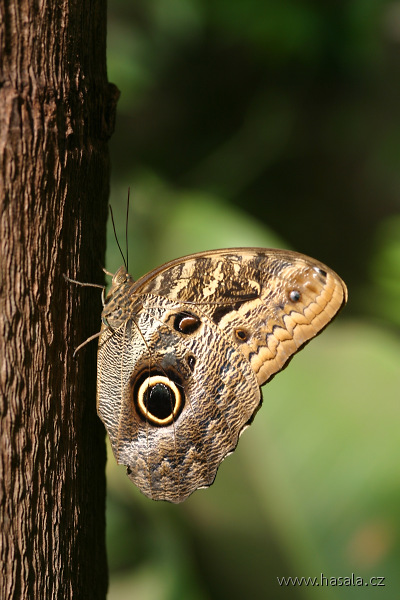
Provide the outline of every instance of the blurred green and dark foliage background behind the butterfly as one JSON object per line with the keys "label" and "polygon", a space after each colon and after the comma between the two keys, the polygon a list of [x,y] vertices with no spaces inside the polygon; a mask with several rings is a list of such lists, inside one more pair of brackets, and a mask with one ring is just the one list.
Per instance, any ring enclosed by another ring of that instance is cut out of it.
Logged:
{"label": "blurred green and dark foliage background behind the butterfly", "polygon": [[[110,453],[110,600],[397,598],[400,2],[114,0],[111,204],[137,278],[278,246],[349,303],[264,388],[215,484],[152,502]],[[107,268],[122,260],[109,232]],[[280,587],[277,577],[385,577]]]}

